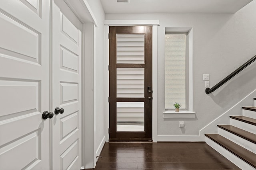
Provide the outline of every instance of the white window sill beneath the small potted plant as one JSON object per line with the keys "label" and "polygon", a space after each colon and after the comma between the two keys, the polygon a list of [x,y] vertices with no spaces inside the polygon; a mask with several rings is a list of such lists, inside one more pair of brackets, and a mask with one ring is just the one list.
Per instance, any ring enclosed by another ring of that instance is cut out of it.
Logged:
{"label": "white window sill beneath the small potted plant", "polygon": [[175,112],[174,110],[164,111],[164,118],[195,118],[196,113],[188,110],[180,110],[180,112]]}

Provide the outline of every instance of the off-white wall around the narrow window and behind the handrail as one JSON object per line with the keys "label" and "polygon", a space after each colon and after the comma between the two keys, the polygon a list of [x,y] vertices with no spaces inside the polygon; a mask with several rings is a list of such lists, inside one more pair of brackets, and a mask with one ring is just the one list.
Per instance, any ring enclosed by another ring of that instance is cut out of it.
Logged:
{"label": "off-white wall around the narrow window and behind the handrail", "polygon": [[[255,9],[254,0],[236,14],[106,14],[106,20],[160,21],[157,70],[158,135],[198,135],[200,129],[255,90],[256,63],[209,95],[205,94],[202,80],[202,74],[210,74],[212,87],[256,55]],[[193,28],[193,109],[196,118],[163,118],[165,27]],[[253,106],[252,104],[253,100],[248,106]],[[240,110],[234,114],[240,114]],[[184,129],[179,128],[179,121],[184,121]],[[190,138],[186,140],[190,141]]]}

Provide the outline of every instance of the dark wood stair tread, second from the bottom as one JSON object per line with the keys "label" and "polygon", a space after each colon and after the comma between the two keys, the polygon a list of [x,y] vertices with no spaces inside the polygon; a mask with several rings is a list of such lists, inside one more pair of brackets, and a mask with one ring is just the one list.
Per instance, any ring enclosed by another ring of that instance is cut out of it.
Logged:
{"label": "dark wood stair tread, second from the bottom", "polygon": [[256,144],[256,135],[253,133],[250,133],[232,125],[218,125],[218,127]]}

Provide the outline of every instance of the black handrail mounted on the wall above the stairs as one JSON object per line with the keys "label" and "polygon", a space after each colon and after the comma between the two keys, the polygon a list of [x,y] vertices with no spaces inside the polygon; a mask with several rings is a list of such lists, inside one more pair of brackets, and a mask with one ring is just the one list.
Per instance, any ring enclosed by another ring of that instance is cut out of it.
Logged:
{"label": "black handrail mounted on the wall above the stairs", "polygon": [[252,57],[250,60],[248,60],[246,63],[244,63],[242,66],[240,66],[238,69],[236,69],[234,72],[229,74],[226,78],[221,80],[218,84],[216,84],[212,88],[206,88],[205,89],[206,94],[210,94],[211,92],[214,92],[216,89],[218,89],[220,86],[222,86],[228,80],[230,80],[232,77],[234,77],[240,71],[244,70],[244,68],[246,68],[248,65],[252,64],[255,60],[256,60],[256,55],[254,57]]}

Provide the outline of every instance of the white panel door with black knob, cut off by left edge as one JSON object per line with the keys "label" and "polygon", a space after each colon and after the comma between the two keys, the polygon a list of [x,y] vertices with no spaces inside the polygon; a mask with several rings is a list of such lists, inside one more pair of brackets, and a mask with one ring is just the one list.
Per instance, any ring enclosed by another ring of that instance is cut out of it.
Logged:
{"label": "white panel door with black knob, cut off by left edge", "polygon": [[50,169],[50,3],[0,0],[0,169]]}

